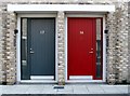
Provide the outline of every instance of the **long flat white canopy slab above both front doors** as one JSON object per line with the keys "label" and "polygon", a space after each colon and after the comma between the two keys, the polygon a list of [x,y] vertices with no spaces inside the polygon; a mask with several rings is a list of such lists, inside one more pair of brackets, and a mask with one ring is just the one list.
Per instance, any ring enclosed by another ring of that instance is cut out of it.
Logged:
{"label": "long flat white canopy slab above both front doors", "polygon": [[8,11],[14,12],[115,12],[114,4],[8,4]]}

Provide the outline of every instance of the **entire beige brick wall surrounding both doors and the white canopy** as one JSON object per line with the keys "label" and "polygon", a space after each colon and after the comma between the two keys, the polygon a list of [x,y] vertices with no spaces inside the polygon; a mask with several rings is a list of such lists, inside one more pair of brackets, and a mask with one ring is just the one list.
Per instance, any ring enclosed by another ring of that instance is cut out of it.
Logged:
{"label": "entire beige brick wall surrounding both doors and the white canopy", "polygon": [[[79,3],[79,4],[115,4],[116,12],[106,14],[108,29],[107,46],[107,82],[125,83],[128,79],[128,3],[116,0],[5,0],[0,5],[0,82],[13,84],[16,82],[16,51],[14,46],[16,14],[6,12],[8,3],[43,4],[43,3]],[[57,12],[57,73],[58,83],[65,82],[65,30],[64,12]]]}

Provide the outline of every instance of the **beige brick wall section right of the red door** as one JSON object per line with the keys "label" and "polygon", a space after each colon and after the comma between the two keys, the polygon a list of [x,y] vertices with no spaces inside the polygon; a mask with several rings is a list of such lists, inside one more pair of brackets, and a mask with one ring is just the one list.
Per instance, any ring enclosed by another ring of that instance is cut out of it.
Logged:
{"label": "beige brick wall section right of the red door", "polygon": [[116,12],[107,15],[109,29],[107,80],[121,83],[128,81],[128,4],[115,3],[115,5]]}

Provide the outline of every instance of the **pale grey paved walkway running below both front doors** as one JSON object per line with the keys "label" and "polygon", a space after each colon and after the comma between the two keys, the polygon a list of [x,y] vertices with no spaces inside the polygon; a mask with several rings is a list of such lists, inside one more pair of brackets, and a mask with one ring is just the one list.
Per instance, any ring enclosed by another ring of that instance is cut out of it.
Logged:
{"label": "pale grey paved walkway running below both front doors", "polygon": [[64,88],[54,88],[56,84],[16,84],[0,85],[0,94],[128,94],[128,85],[108,84],[66,84]]}

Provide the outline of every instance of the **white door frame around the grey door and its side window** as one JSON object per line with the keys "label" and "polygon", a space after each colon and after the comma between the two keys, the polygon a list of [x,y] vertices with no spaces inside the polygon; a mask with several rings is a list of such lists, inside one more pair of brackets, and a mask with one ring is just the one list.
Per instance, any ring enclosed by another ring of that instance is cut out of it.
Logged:
{"label": "white door frame around the grey door and its side window", "polygon": [[[21,17],[55,17],[55,80],[22,80],[21,79]],[[16,35],[16,81],[22,83],[56,83],[57,82],[57,16],[55,14],[17,14]]]}

